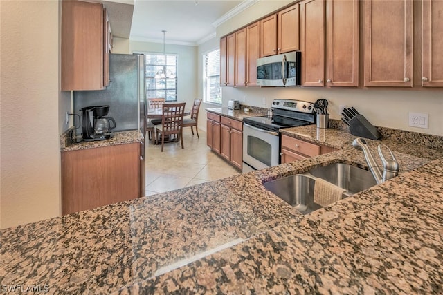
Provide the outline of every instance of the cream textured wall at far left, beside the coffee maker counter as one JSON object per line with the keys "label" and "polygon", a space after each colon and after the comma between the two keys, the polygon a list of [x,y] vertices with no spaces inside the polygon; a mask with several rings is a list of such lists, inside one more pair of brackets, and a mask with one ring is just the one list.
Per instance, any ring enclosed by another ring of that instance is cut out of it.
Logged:
{"label": "cream textured wall at far left, beside the coffee maker counter", "polygon": [[0,1],[1,228],[60,215],[59,5]]}

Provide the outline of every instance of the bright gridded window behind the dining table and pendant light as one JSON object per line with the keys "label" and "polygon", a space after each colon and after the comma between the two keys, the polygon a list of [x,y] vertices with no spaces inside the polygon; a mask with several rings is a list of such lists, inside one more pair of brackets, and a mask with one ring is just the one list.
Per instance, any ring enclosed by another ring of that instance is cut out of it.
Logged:
{"label": "bright gridded window behind the dining table and pendant light", "polygon": [[177,101],[177,64],[177,55],[145,53],[147,98]]}

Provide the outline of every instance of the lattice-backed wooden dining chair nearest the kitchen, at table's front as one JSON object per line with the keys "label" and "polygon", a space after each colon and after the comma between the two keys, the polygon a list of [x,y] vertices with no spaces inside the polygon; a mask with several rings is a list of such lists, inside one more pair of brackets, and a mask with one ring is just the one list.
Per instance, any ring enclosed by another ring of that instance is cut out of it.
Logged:
{"label": "lattice-backed wooden dining chair nearest the kitchen, at table's front", "polygon": [[183,124],[183,114],[185,113],[185,102],[177,104],[163,104],[163,115],[161,116],[161,124],[155,126],[155,141],[159,144],[159,135],[161,135],[161,151],[165,144],[165,137],[176,136],[176,142],[181,142],[183,146],[183,132],[181,124]]}

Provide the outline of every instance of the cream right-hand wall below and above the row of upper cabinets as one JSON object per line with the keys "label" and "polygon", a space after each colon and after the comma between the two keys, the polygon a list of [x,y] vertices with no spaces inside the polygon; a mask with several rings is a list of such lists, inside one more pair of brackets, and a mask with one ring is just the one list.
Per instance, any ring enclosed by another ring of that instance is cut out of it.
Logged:
{"label": "cream right-hand wall below and above the row of upper cabinets", "polygon": [[[239,15],[217,27],[217,38],[245,26],[264,15],[293,1],[259,1]],[[223,105],[228,99],[239,99],[252,106],[271,106],[272,99],[289,98],[315,102],[325,98],[329,101],[332,119],[341,119],[339,106],[354,106],[368,120],[377,126],[402,129],[419,133],[443,135],[443,90],[425,89],[356,89],[356,88],[233,88],[223,87]],[[246,96],[246,102],[244,97]],[[262,104],[266,97],[266,105]],[[419,129],[408,126],[408,112],[427,113],[429,128]]]}

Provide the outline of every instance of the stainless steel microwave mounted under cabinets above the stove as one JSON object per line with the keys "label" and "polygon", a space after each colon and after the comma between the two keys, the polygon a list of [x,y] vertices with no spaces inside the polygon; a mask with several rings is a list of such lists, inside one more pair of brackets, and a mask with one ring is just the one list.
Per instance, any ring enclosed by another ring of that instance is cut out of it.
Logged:
{"label": "stainless steel microwave mounted under cabinets above the stove", "polygon": [[257,59],[257,85],[300,86],[300,51]]}

